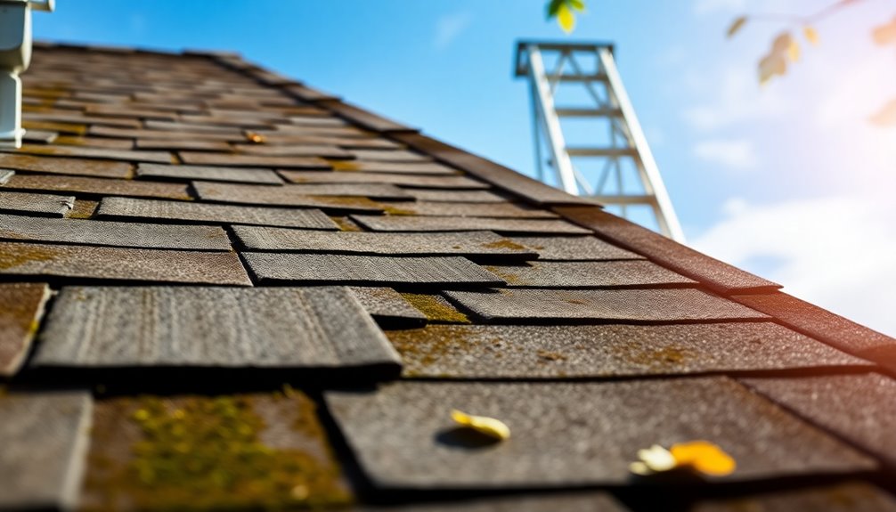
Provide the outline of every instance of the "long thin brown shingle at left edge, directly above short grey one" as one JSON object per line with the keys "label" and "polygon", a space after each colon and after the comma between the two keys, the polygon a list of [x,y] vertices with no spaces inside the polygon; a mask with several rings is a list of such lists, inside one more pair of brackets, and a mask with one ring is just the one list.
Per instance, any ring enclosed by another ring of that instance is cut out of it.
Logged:
{"label": "long thin brown shingle at left edge, directly above short grey one", "polygon": [[123,195],[161,199],[192,199],[185,184],[107,180],[82,176],[14,175],[5,185],[9,190],[73,192],[90,195]]}

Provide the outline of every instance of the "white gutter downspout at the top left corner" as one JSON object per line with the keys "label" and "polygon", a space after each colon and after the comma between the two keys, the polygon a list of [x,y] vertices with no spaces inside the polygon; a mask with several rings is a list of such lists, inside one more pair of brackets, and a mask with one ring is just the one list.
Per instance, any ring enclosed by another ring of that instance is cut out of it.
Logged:
{"label": "white gutter downspout at the top left corner", "polygon": [[22,81],[31,62],[31,9],[53,11],[55,0],[0,0],[0,148],[21,148]]}

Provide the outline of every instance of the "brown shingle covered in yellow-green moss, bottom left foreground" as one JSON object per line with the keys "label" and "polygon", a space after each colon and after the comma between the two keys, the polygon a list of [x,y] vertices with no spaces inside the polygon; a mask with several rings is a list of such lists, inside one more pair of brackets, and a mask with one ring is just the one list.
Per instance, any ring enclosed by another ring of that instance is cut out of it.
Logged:
{"label": "brown shingle covered in yellow-green moss, bottom left foreground", "polygon": [[[314,404],[300,393],[290,390],[289,396],[263,400],[142,397],[117,402],[129,423],[125,428],[136,431],[135,440],[125,464],[91,457],[88,488],[103,495],[97,508],[323,508],[351,501],[338,465],[326,452]],[[287,424],[303,438],[303,448],[320,443],[323,449],[316,451],[323,453],[272,448],[263,440],[267,425],[258,409],[263,402],[277,412],[283,405],[294,411],[295,421]],[[120,435],[119,422],[100,425],[94,442],[101,447],[104,436]]]}

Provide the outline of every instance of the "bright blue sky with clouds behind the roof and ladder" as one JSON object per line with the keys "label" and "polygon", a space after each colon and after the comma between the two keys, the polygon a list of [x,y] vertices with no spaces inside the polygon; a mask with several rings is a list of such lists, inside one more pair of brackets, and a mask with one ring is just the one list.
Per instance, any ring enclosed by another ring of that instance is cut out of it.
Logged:
{"label": "bright blue sky with clouds behind the roof and ladder", "polygon": [[[617,63],[688,242],[896,335],[896,130],[868,116],[896,97],[896,47],[866,0],[820,21],[788,76],[755,66],[784,26],[731,19],[811,13],[819,0],[590,0],[572,38],[616,43]],[[543,0],[58,0],[37,38],[247,59],[524,173],[530,105],[514,41],[566,38]]]}

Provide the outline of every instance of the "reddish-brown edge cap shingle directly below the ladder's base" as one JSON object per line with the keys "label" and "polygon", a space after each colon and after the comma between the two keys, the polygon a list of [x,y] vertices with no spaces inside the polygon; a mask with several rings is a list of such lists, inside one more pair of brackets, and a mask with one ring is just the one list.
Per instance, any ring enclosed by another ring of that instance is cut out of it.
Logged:
{"label": "reddish-brown edge cap shingle directly below the ladder's base", "polygon": [[643,254],[650,260],[687,277],[693,277],[713,289],[736,292],[780,288],[780,285],[776,283],[756,277],[749,272],[732,267],[728,263],[715,260],[702,252],[696,252],[681,243],[624,218],[611,215],[602,209],[559,207],[555,211],[576,224],[588,226],[600,236],[625,249]]}

